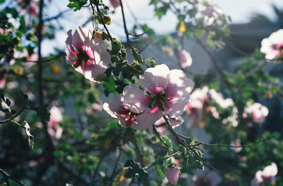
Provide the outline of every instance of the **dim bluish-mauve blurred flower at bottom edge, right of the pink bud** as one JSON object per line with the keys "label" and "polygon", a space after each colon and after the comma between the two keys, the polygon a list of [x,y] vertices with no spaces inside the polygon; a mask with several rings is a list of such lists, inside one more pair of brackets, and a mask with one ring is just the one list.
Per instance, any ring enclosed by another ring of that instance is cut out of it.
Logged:
{"label": "dim bluish-mauve blurred flower at bottom edge, right of the pink bud", "polygon": [[216,171],[206,172],[198,169],[196,170],[192,180],[193,186],[216,186],[222,181],[222,178]]}

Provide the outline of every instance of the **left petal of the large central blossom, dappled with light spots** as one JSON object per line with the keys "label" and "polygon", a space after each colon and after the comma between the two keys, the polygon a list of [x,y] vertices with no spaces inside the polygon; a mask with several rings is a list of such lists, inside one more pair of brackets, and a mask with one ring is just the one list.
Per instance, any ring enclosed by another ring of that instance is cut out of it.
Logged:
{"label": "left petal of the large central blossom, dappled with light spots", "polygon": [[123,95],[123,105],[126,105],[134,113],[141,113],[154,100],[142,91],[138,85],[127,85],[123,90]]}

